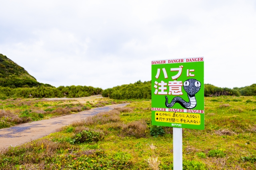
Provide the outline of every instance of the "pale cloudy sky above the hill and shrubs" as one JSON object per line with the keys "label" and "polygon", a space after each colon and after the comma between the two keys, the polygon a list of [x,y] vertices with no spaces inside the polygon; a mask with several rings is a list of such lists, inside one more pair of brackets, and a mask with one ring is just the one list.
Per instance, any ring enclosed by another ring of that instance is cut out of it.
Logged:
{"label": "pale cloudy sky above the hill and shrubs", "polygon": [[204,57],[204,83],[256,83],[256,0],[0,0],[0,53],[38,82],[103,89]]}

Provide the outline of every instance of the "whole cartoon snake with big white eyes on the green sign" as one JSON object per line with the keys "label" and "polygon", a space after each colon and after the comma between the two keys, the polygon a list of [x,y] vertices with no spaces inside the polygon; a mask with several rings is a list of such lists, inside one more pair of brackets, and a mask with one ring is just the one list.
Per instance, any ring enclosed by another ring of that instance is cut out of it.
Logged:
{"label": "whole cartoon snake with big white eyes on the green sign", "polygon": [[179,103],[182,107],[184,107],[186,109],[193,109],[194,107],[196,107],[195,94],[197,92],[199,92],[199,90],[201,88],[201,83],[198,80],[191,78],[191,79],[186,80],[183,83],[183,88],[188,94],[189,102],[186,102],[181,97],[175,97],[172,99],[172,102],[170,104],[168,104],[168,97],[165,96],[165,99],[166,99],[165,106],[166,107],[172,107],[172,106],[174,106],[175,103]]}

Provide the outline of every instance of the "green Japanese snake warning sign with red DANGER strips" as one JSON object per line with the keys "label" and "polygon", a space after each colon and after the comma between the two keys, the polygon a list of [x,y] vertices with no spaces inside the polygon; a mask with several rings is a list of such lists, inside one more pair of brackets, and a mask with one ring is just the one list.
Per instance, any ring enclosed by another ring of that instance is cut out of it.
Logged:
{"label": "green Japanese snake warning sign with red DANGER strips", "polygon": [[152,125],[204,129],[204,57],[152,61]]}

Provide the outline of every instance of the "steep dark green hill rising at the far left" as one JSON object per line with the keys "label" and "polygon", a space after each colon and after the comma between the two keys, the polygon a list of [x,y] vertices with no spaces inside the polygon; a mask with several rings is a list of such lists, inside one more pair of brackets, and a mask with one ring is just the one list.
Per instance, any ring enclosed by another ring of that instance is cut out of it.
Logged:
{"label": "steep dark green hill rising at the far left", "polygon": [[31,76],[23,67],[0,54],[0,86],[18,88],[18,87],[37,87],[48,86],[50,84],[40,83]]}

